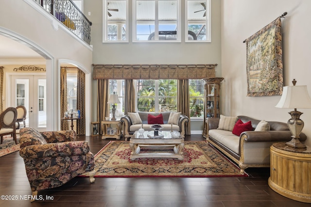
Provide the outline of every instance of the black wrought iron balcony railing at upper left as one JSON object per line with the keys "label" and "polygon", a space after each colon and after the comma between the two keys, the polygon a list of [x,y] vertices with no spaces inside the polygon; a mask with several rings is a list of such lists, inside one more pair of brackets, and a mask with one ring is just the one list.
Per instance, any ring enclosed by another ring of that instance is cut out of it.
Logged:
{"label": "black wrought iron balcony railing at upper left", "polygon": [[66,25],[80,39],[90,44],[92,22],[71,0],[35,0],[35,2]]}

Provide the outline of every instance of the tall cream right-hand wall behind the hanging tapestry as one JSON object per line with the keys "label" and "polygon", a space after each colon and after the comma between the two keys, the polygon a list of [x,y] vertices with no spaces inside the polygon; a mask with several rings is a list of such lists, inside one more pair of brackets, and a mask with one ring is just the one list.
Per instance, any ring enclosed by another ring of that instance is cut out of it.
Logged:
{"label": "tall cream right-hand wall behind the hanging tapestry", "polygon": [[[275,108],[280,96],[249,97],[246,82],[246,45],[243,40],[284,12],[282,19],[284,86],[307,85],[311,93],[310,0],[222,0],[222,76],[226,115],[248,115],[267,121],[287,122],[292,109]],[[224,102],[223,102],[224,103]],[[311,109],[304,114],[303,132],[311,145]]]}

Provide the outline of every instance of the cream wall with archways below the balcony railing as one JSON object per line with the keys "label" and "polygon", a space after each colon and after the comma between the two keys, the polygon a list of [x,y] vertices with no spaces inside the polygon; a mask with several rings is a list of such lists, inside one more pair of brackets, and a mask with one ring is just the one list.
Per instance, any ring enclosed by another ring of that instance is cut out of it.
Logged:
{"label": "cream wall with archways below the balcony railing", "polygon": [[[38,8],[33,8],[32,4]],[[42,12],[46,15],[42,15]],[[80,66],[89,79],[86,80],[88,84],[86,87],[90,90],[92,48],[77,41],[61,22],[33,0],[1,0],[0,32],[14,36],[23,44],[31,45],[35,51],[40,52],[47,59],[47,94],[49,94],[47,116],[48,120],[51,120],[47,123],[47,127],[48,130],[58,129],[60,121],[59,65],[70,63]],[[88,97],[86,99],[87,109],[90,108],[90,103]],[[86,115],[86,131],[89,132],[87,123],[90,123],[90,110]]]}

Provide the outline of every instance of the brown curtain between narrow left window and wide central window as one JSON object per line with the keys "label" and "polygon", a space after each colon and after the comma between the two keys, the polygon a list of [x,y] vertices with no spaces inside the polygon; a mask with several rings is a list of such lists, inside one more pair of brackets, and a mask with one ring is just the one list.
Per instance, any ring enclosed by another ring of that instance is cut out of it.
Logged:
{"label": "brown curtain between narrow left window and wide central window", "polygon": [[135,97],[135,86],[134,80],[125,80],[125,106],[124,106],[124,114],[128,112],[135,112],[135,101],[133,101],[133,97]]}

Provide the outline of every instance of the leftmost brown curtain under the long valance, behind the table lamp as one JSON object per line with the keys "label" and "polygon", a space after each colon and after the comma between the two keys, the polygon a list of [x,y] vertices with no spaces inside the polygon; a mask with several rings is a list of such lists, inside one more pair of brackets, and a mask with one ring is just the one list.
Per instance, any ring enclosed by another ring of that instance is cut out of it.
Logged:
{"label": "leftmost brown curtain under the long valance, behind the table lamp", "polygon": [[108,107],[109,80],[97,80],[97,120],[99,120],[99,133],[102,134],[102,121],[109,116]]}

